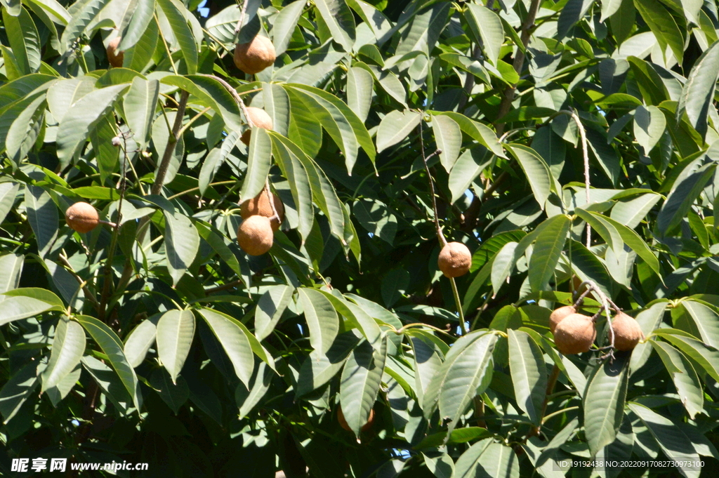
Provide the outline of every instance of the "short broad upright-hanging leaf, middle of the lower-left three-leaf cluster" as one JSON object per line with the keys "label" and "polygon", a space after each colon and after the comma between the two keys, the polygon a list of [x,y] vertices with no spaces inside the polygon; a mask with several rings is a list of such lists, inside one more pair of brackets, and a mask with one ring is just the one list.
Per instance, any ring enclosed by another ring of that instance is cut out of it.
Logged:
{"label": "short broad upright-hanging leaf, middle of the lower-left three-leaf cluster", "polygon": [[157,321],[157,356],[173,384],[190,353],[195,337],[195,315],[192,311],[167,311]]}

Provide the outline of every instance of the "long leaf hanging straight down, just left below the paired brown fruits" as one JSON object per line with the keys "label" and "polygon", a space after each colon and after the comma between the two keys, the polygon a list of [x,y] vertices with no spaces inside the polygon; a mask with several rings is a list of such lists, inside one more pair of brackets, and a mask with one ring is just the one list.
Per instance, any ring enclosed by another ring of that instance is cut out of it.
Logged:
{"label": "long leaf hanging straight down, just left below the paired brown fruits", "polygon": [[539,425],[546,395],[544,354],[526,332],[509,329],[507,334],[509,368],[517,405],[529,415],[534,424]]}

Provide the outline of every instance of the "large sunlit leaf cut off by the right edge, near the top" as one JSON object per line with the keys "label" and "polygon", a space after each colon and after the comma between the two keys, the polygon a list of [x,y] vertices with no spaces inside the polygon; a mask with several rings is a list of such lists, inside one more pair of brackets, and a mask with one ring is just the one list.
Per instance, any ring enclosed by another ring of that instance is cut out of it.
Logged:
{"label": "large sunlit leaf cut off by the right edge, near the top", "polygon": [[713,107],[716,82],[719,79],[719,47],[713,43],[696,61],[684,83],[679,98],[677,120],[686,112],[689,123],[704,138],[707,134],[707,115]]}

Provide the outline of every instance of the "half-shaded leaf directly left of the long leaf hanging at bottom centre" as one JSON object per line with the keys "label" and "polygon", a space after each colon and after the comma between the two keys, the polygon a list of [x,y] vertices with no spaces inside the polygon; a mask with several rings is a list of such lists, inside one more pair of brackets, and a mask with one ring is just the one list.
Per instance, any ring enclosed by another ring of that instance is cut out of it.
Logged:
{"label": "half-shaded leaf directly left of the long leaf hanging at bottom centre", "polygon": [[317,349],[311,351],[300,367],[297,396],[302,397],[329,382],[342,369],[358,342],[359,338],[352,332],[344,332],[336,336],[326,353]]}

